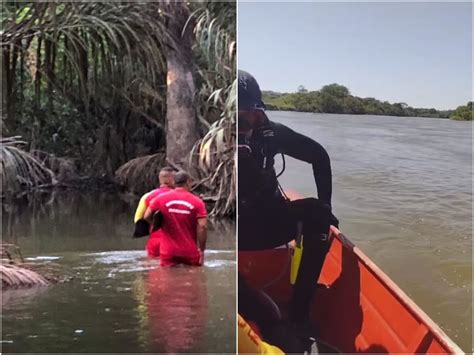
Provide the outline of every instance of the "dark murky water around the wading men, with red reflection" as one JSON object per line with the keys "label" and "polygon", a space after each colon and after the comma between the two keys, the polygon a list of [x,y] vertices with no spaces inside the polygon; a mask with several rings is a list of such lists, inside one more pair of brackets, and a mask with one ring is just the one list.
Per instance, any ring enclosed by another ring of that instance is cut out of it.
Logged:
{"label": "dark murky water around the wading men, with red reflection", "polygon": [[119,196],[59,191],[3,212],[4,242],[75,278],[2,293],[2,352],[235,352],[234,223],[211,224],[204,267],[161,268]]}

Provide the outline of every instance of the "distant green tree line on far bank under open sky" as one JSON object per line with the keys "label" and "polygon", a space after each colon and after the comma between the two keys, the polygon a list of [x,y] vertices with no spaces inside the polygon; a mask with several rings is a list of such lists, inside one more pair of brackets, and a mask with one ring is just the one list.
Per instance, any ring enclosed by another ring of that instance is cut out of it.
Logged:
{"label": "distant green tree line on far bank under open sky", "polygon": [[303,86],[294,93],[263,91],[263,100],[269,110],[339,113],[354,115],[385,115],[407,117],[452,118],[472,120],[472,102],[456,110],[413,108],[406,103],[389,103],[372,97],[351,95],[343,85],[330,84],[318,91],[308,91]]}

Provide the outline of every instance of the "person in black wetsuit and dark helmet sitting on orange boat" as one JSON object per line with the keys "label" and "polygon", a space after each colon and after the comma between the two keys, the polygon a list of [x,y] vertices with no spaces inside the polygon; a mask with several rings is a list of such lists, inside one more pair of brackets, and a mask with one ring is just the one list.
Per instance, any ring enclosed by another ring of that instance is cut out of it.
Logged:
{"label": "person in black wetsuit and dark helmet sitting on orange boat", "polygon": [[[238,248],[275,248],[295,239],[301,229],[304,250],[289,319],[307,324],[316,280],[329,250],[329,227],[339,223],[331,211],[330,158],[313,139],[268,119],[252,75],[239,70],[238,85]],[[278,153],[312,164],[318,199],[286,198],[274,168]]]}

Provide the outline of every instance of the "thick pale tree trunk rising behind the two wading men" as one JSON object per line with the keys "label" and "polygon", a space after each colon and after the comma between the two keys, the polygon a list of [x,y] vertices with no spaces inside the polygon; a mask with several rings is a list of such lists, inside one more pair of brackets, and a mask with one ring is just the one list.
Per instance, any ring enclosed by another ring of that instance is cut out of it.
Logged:
{"label": "thick pale tree trunk rising behind the two wading men", "polygon": [[194,108],[195,85],[192,61],[192,24],[188,23],[189,9],[184,2],[169,2],[169,26],[174,43],[166,51],[166,156],[168,161],[183,165],[199,138]]}

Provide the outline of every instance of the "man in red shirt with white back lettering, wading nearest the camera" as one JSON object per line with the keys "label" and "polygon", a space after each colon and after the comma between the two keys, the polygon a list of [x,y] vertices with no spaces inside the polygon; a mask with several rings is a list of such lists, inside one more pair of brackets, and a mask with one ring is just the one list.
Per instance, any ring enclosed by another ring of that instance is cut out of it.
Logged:
{"label": "man in red shirt with white back lettering, wading nearest the camera", "polygon": [[160,264],[201,266],[207,240],[207,212],[204,202],[192,194],[191,178],[180,171],[175,175],[175,189],[155,197],[145,212],[152,223],[153,214],[162,216]]}

